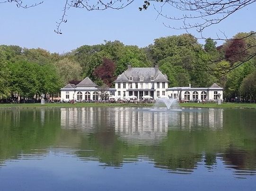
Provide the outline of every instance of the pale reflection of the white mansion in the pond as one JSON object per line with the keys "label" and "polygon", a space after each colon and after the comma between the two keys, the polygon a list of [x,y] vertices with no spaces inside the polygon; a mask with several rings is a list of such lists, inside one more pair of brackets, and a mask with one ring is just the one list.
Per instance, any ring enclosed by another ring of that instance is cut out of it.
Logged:
{"label": "pale reflection of the white mansion in the pond", "polygon": [[223,109],[150,111],[149,108],[61,108],[61,126],[92,131],[98,126],[112,128],[125,140],[160,140],[168,129],[223,127]]}

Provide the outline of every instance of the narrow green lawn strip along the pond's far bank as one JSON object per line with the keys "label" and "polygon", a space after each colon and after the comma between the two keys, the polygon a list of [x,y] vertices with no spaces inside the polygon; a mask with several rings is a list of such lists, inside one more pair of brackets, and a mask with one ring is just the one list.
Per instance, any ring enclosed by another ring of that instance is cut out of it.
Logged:
{"label": "narrow green lawn strip along the pond's far bank", "polygon": [[[19,103],[19,104],[0,104],[0,108],[71,108],[71,107],[151,107],[154,104],[135,104],[135,103]],[[180,107],[195,107],[195,108],[256,108],[253,103],[180,103]]]}

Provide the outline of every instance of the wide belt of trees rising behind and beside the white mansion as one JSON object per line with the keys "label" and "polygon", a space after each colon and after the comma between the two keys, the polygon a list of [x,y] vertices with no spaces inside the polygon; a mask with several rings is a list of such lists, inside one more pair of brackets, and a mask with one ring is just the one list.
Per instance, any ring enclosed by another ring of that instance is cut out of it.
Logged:
{"label": "wide belt of trees rising behind and beside the white mansion", "polygon": [[0,99],[8,98],[10,92],[27,98],[53,93],[86,76],[99,86],[111,86],[128,64],[159,65],[168,76],[169,87],[189,83],[193,87],[209,87],[217,82],[225,89],[226,98],[242,94],[249,99],[242,82],[256,70],[256,58],[246,60],[246,56],[255,54],[255,44],[256,35],[250,32],[238,33],[219,47],[211,38],[202,45],[189,34],[161,37],[144,48],[105,41],[83,45],[63,55],[40,48],[0,45]]}

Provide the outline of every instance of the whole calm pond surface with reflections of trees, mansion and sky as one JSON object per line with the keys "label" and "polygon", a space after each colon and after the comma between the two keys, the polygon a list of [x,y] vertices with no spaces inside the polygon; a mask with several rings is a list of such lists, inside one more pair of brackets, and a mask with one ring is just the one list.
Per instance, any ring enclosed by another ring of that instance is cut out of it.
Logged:
{"label": "whole calm pond surface with reflections of trees, mansion and sky", "polygon": [[255,187],[253,109],[0,109],[0,191]]}

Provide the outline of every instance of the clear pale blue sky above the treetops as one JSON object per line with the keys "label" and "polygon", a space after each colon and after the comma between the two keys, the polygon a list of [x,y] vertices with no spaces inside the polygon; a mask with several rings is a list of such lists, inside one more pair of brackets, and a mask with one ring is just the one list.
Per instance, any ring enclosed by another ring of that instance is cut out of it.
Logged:
{"label": "clear pale blue sky above the treetops", "polygon": [[[63,53],[85,44],[104,43],[104,40],[119,40],[126,45],[144,47],[153,43],[156,38],[185,33],[165,27],[163,23],[179,27],[182,22],[157,18],[153,7],[139,11],[138,7],[143,1],[137,0],[123,10],[88,12],[73,8],[68,12],[68,22],[62,25],[63,34],[59,35],[53,31],[55,21],[62,16],[64,2],[44,0],[42,5],[29,9],[17,8],[13,3],[0,4],[0,44],[40,47],[50,52]],[[228,37],[238,32],[256,31],[255,4],[240,10],[221,24],[207,28],[205,37],[216,38],[216,33],[221,34],[220,31],[225,32]],[[180,14],[174,9],[168,12],[172,15]],[[190,33],[199,36],[194,31]]]}

